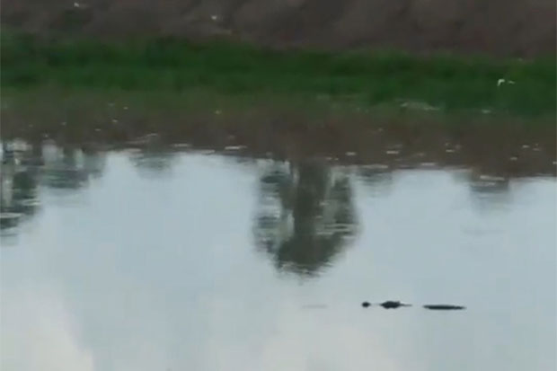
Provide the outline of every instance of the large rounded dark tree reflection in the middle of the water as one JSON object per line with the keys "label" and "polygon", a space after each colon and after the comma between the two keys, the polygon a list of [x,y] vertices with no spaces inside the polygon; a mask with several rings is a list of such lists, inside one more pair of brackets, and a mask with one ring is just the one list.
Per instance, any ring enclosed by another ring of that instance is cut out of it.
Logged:
{"label": "large rounded dark tree reflection in the middle of the water", "polygon": [[324,163],[271,164],[260,202],[257,243],[279,269],[314,275],[356,232],[349,176]]}

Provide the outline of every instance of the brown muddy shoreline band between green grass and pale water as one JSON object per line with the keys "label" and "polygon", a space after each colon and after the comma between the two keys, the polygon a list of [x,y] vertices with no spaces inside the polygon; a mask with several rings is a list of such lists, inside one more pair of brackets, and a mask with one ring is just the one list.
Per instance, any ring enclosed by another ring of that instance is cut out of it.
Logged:
{"label": "brown muddy shoreline band between green grass and pale water", "polygon": [[84,151],[201,150],[254,159],[318,159],[367,165],[374,173],[462,167],[473,169],[475,181],[498,186],[509,178],[557,176],[557,128],[544,124],[369,117],[310,121],[293,114],[251,119],[191,116],[166,119],[164,126],[157,120],[125,119],[104,126],[62,121],[41,127],[30,122],[4,119],[3,140],[22,138],[35,146],[50,141]]}

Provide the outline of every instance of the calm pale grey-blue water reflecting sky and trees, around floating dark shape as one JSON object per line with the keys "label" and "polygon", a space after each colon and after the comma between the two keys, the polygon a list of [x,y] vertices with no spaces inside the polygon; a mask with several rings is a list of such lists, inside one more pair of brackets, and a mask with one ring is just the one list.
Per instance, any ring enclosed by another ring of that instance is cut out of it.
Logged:
{"label": "calm pale grey-blue water reflecting sky and trees, around floating dark shape", "polygon": [[[20,149],[3,370],[556,367],[551,175]],[[414,306],[361,307],[387,299]],[[466,310],[419,306],[437,303]]]}

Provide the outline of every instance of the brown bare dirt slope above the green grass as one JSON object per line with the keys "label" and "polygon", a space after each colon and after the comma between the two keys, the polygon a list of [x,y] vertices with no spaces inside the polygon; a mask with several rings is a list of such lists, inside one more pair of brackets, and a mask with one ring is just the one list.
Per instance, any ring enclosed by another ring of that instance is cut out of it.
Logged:
{"label": "brown bare dirt slope above the green grass", "polygon": [[555,0],[3,0],[1,21],[96,37],[532,57],[555,53],[555,12]]}

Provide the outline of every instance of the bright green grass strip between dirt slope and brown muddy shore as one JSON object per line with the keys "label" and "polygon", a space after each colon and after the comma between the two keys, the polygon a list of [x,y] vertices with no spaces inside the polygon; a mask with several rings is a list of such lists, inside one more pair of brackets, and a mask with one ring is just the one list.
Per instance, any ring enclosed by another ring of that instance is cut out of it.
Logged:
{"label": "bright green grass strip between dirt slope and brown muddy shore", "polygon": [[[489,59],[400,52],[278,51],[213,41],[48,39],[2,32],[4,91],[42,86],[100,91],[325,98],[361,107],[427,102],[440,110],[553,116],[555,57]],[[500,78],[516,84],[497,85]],[[168,94],[162,94],[162,96]]]}

